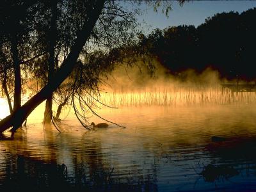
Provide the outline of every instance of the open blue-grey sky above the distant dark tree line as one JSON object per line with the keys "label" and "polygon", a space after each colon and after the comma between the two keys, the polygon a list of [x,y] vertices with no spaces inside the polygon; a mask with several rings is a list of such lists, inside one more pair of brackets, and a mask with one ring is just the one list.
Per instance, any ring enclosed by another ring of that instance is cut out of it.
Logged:
{"label": "open blue-grey sky above the distant dark tree line", "polygon": [[152,29],[164,29],[168,26],[194,25],[198,26],[207,17],[212,17],[216,13],[222,12],[244,12],[256,7],[256,1],[189,1],[179,6],[177,1],[172,1],[173,7],[168,17],[159,10],[154,12],[153,8],[146,8],[147,12],[138,17],[138,20],[145,21],[143,26],[145,33],[150,33]]}

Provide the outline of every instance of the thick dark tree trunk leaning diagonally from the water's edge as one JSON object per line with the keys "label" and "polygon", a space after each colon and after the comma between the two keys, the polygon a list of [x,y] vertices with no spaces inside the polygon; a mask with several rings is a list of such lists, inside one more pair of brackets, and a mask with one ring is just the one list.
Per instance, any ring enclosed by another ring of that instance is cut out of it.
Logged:
{"label": "thick dark tree trunk leaning diagonally from the water's edge", "polygon": [[72,45],[70,52],[63,64],[56,72],[54,79],[51,82],[48,82],[40,92],[36,93],[31,99],[28,100],[22,107],[17,111],[13,112],[12,115],[6,116],[3,120],[0,121],[0,132],[11,129],[12,132],[15,132],[17,129],[17,124],[24,122],[28,115],[39,105],[41,104],[49,95],[51,95],[54,90],[60,86],[60,84],[70,75],[76,60],[83,49],[84,44],[88,40],[92,29],[95,26],[97,19],[99,18],[100,12],[102,11],[104,1],[99,0],[95,3],[95,8],[92,9],[92,12],[88,14],[88,20],[84,22],[83,28],[77,34],[76,42]]}

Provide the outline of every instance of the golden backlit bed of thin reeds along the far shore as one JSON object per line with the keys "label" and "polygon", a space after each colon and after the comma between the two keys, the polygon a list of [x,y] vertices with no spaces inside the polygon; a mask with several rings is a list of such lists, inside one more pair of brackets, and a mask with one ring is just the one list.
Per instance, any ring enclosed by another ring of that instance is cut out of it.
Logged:
{"label": "golden backlit bed of thin reeds along the far shore", "polygon": [[232,93],[221,86],[170,86],[150,89],[113,90],[100,95],[108,106],[180,106],[193,104],[253,104],[255,92]]}

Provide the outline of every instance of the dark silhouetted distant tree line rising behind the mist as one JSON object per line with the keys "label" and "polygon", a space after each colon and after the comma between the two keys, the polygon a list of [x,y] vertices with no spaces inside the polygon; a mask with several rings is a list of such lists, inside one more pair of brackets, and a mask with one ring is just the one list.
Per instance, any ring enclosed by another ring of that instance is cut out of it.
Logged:
{"label": "dark silhouetted distant tree line rising behind the mist", "polygon": [[218,13],[204,24],[155,29],[140,35],[140,45],[172,74],[188,68],[202,72],[211,67],[220,76],[255,79],[256,8],[241,14]]}

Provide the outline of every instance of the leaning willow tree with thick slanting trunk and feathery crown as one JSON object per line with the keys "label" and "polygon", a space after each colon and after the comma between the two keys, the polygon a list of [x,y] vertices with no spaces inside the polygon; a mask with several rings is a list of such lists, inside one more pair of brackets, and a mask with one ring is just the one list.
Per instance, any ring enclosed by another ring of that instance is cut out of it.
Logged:
{"label": "leaning willow tree with thick slanting trunk and feathery crown", "polygon": [[[144,2],[154,7],[163,4],[166,12],[170,10],[169,1]],[[125,3],[131,3],[130,7],[125,8]],[[42,8],[45,4],[49,5],[48,8]],[[77,61],[83,60],[84,55],[88,52],[95,50],[108,52],[115,47],[127,44],[136,32],[134,31],[137,25],[135,15],[140,13],[139,9],[131,8],[134,4],[140,5],[141,1],[35,0],[19,1],[19,6],[4,4],[6,7],[2,6],[1,9],[9,10],[9,12],[4,12],[4,22],[1,22],[1,28],[12,26],[13,19],[17,24],[22,23],[22,19],[28,17],[28,13],[30,13],[29,20],[31,24],[26,22],[24,24],[30,26],[29,40],[33,42],[33,47],[26,49],[22,57],[28,57],[28,63],[32,63],[29,67],[32,69],[48,66],[48,81],[28,102],[1,120],[0,132],[10,127],[12,127],[11,131],[15,132],[40,103],[46,99],[51,100],[52,93],[70,76]],[[38,29],[38,27],[42,26],[50,31],[50,35],[45,39],[40,38],[42,29]],[[11,30],[10,34],[15,37],[15,34],[17,34],[15,30],[9,29]],[[24,42],[24,36],[19,36],[18,40]],[[13,41],[13,45],[17,45],[15,39]],[[47,47],[46,56],[44,51],[41,50],[42,47]],[[11,49],[15,52],[16,48],[11,45]],[[14,54],[13,57],[15,57]],[[17,58],[13,58],[14,65],[16,65],[16,61]],[[43,66],[44,61],[45,65]],[[99,62],[101,61],[99,60]],[[20,63],[20,59],[16,63]],[[38,65],[38,63],[41,64]],[[52,64],[55,66],[53,68],[54,72],[50,72]],[[86,65],[83,67],[86,68]],[[18,89],[19,84],[15,84],[15,88]],[[77,89],[79,89],[79,86]],[[20,93],[17,92],[17,94]],[[15,97],[19,97],[19,95],[15,95]]]}

